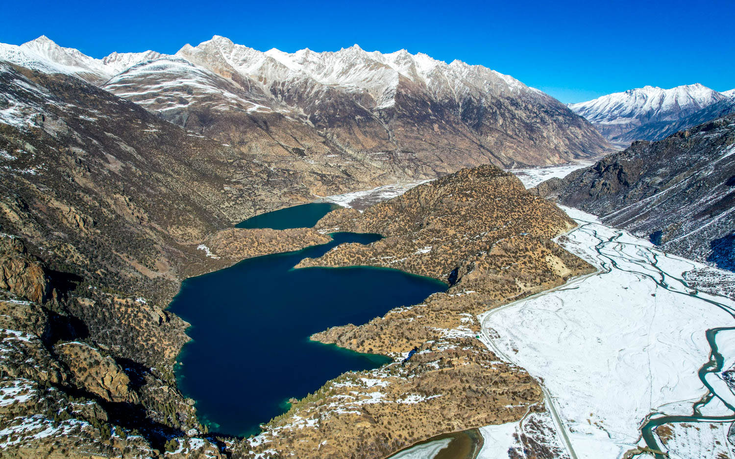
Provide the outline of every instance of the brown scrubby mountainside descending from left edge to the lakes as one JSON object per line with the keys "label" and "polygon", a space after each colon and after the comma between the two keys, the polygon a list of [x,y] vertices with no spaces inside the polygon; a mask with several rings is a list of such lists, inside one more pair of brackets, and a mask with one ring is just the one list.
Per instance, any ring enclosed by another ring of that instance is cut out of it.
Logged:
{"label": "brown scrubby mountainside descending from left edge to the lakes", "polygon": [[232,148],[79,79],[0,68],[0,225],[56,270],[162,304],[210,270],[199,244],[308,199]]}

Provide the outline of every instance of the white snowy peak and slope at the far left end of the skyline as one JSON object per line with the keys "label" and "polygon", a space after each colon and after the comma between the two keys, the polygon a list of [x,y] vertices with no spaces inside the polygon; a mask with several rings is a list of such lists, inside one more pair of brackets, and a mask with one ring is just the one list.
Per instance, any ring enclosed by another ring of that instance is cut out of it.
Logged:
{"label": "white snowy peak and slope at the far left end of the skyline", "polygon": [[158,59],[155,51],[142,53],[112,53],[95,59],[74,48],[62,48],[46,35],[20,46],[0,43],[0,60],[46,73],[65,73],[78,76],[93,84],[106,82],[116,73],[148,59]]}

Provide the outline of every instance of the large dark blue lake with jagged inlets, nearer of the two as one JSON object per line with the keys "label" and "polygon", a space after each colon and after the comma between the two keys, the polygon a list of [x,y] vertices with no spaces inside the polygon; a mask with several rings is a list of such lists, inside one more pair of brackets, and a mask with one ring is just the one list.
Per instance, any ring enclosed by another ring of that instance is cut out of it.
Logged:
{"label": "large dark blue lake with jagged inlets, nearer of the two", "polygon": [[[288,227],[303,223],[295,218]],[[192,324],[187,334],[193,341],[179,355],[176,377],[210,430],[258,433],[260,423],[287,411],[290,397],[304,397],[343,372],[390,361],[309,336],[334,325],[368,322],[447,288],[384,268],[293,269],[301,259],[339,244],[380,239],[354,233],[332,237],[329,244],[240,261],[182,283],[170,308]]]}

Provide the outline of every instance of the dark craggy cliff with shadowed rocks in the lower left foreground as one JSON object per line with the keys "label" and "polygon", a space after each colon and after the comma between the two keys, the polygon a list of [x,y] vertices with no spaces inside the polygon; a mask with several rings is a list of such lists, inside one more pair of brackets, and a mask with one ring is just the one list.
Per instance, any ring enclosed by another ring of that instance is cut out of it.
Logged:
{"label": "dark craggy cliff with shadowed rocks in the lower left foreground", "polygon": [[[67,281],[29,255],[21,239],[3,235],[0,245],[6,270],[20,261],[24,267],[16,276],[22,283],[0,289],[3,455],[154,457],[166,436],[187,441],[184,433],[201,433],[191,404],[171,387],[173,375],[161,372],[187,339],[185,322],[97,289],[68,297]],[[38,292],[49,294],[44,300]],[[135,305],[132,321],[115,314],[117,303]],[[97,307],[85,317],[82,305]],[[122,336],[147,346],[146,358]],[[167,348],[173,352],[161,355]],[[145,434],[132,435],[138,430]],[[200,443],[201,453],[218,457],[217,447]]]}

